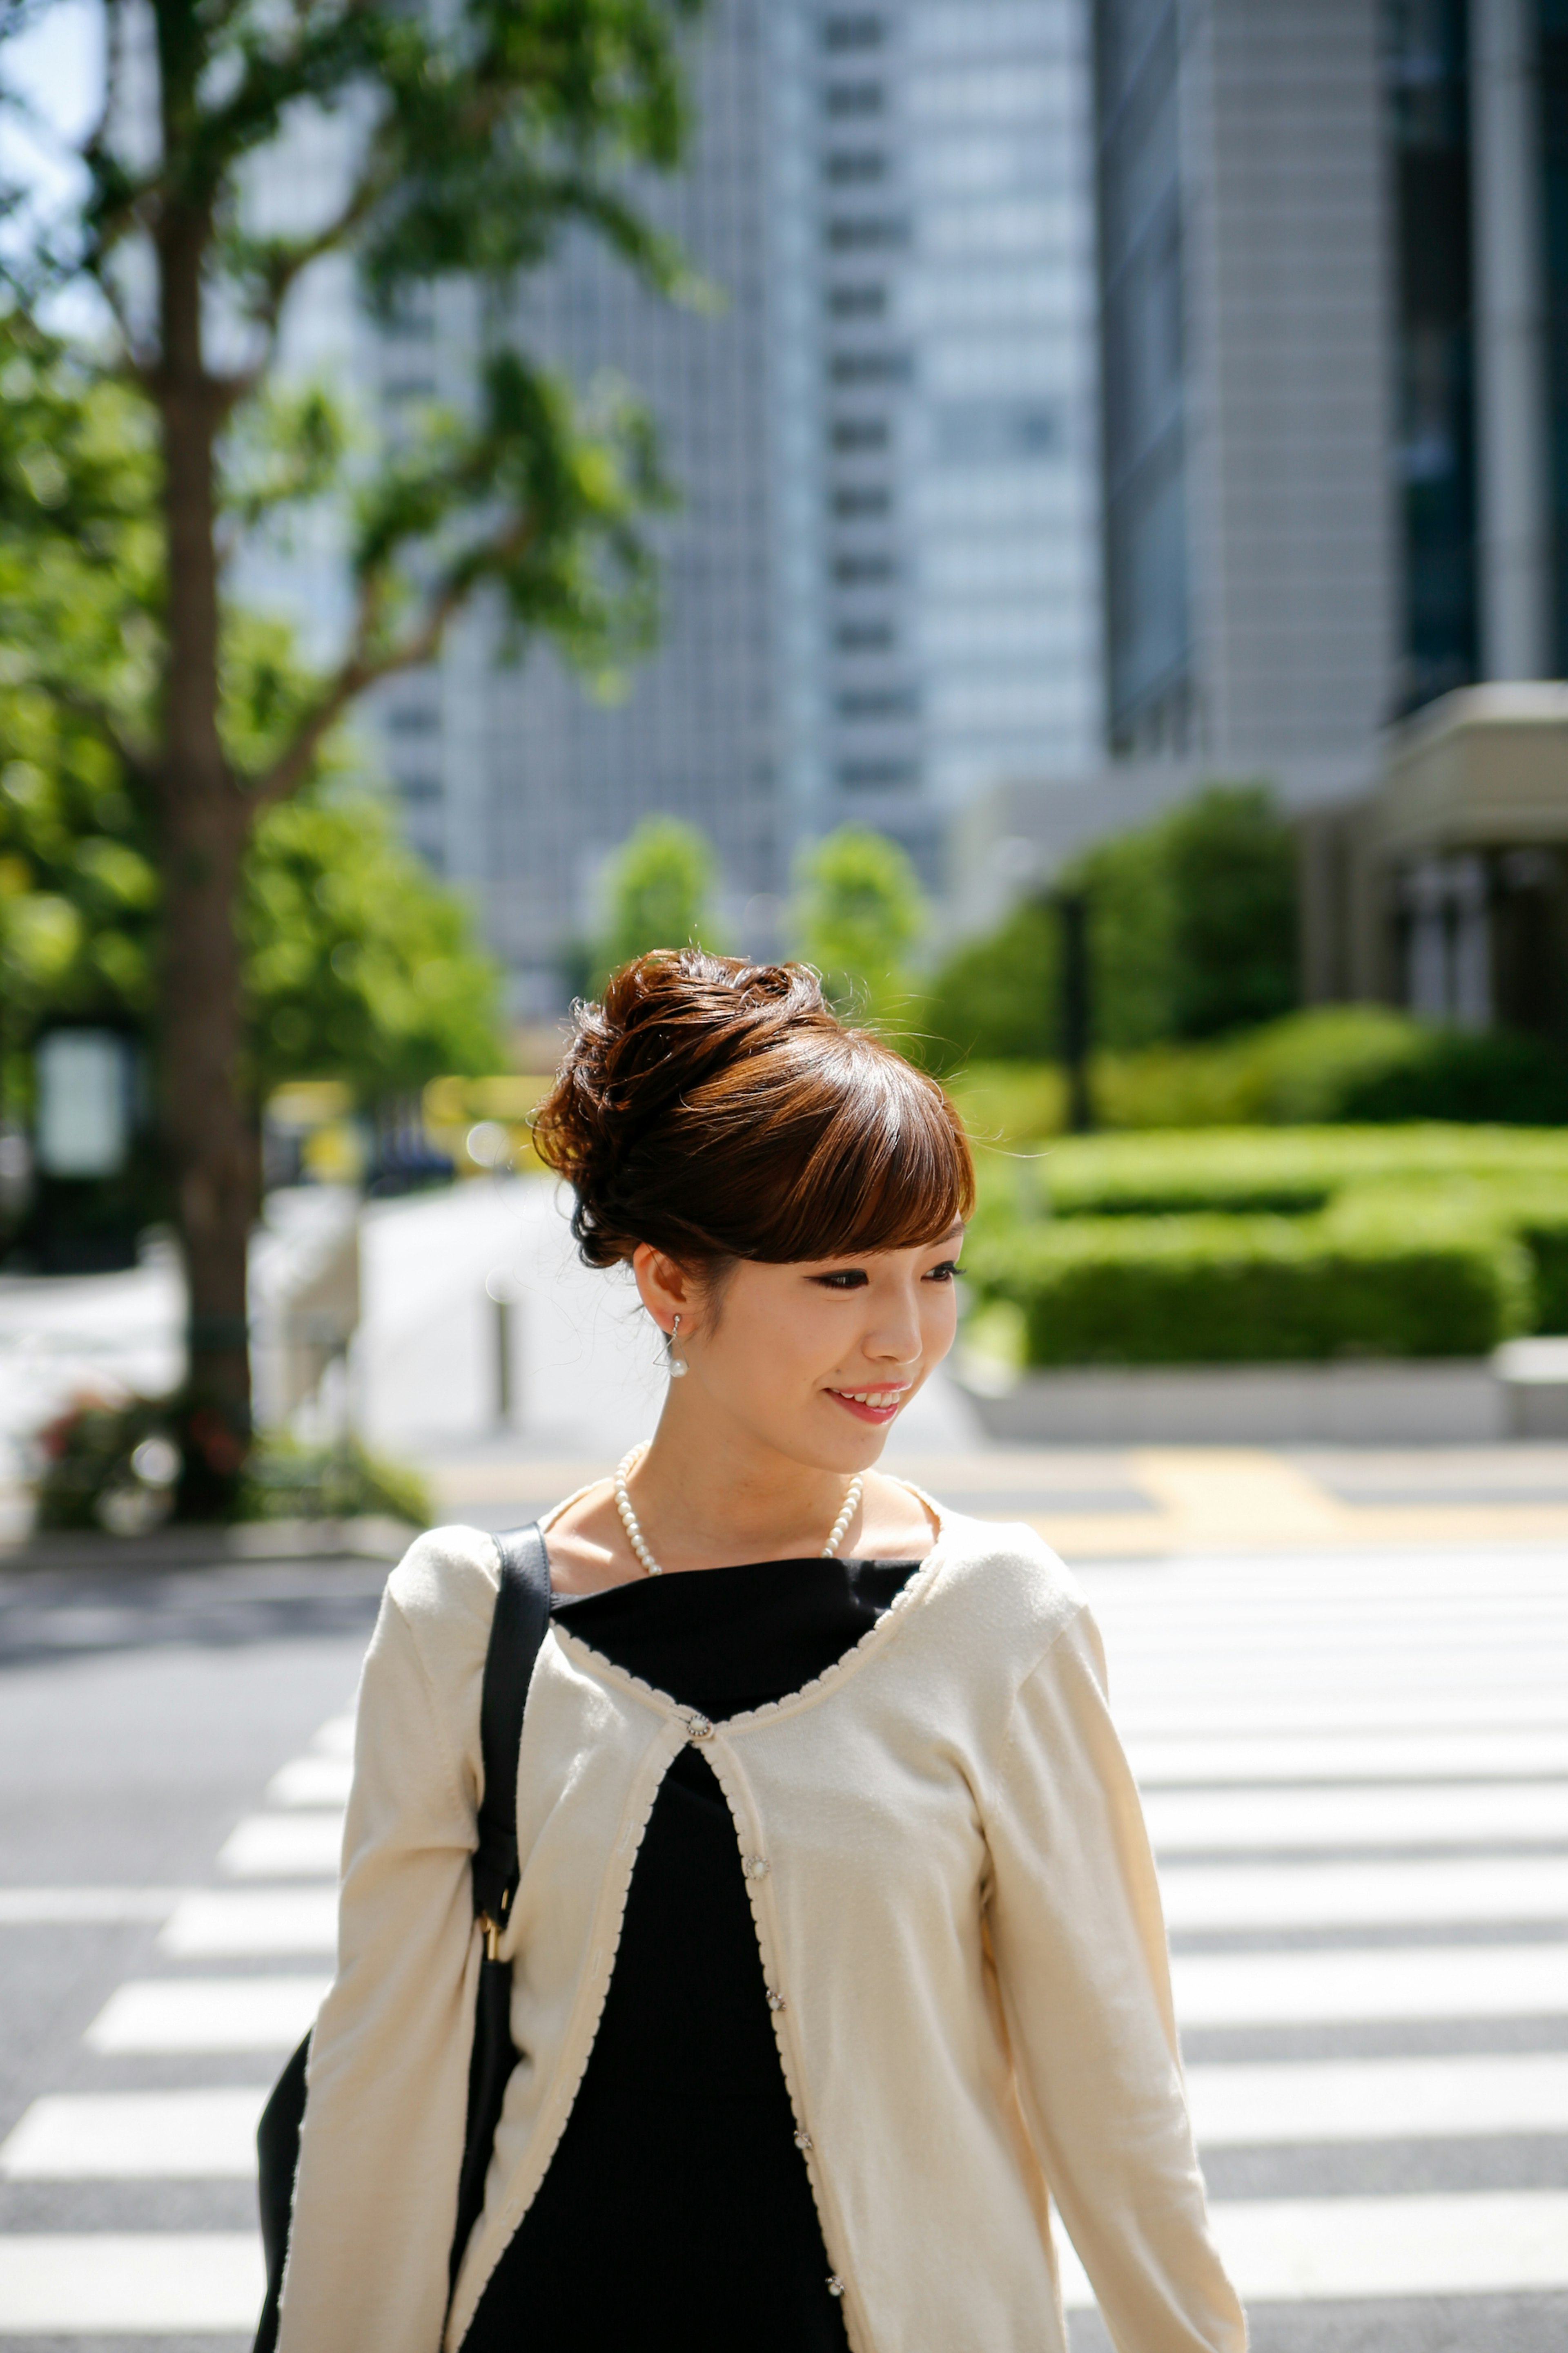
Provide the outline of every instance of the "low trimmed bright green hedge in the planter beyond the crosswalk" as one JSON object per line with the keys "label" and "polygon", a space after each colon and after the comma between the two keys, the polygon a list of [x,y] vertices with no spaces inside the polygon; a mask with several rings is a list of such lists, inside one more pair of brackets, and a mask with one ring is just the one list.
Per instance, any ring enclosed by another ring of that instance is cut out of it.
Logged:
{"label": "low trimmed bright green hedge in the planter beyond the crosswalk", "polygon": [[1568,1134],[1276,1127],[983,1158],[964,1268],[1034,1365],[1467,1355],[1568,1332]]}

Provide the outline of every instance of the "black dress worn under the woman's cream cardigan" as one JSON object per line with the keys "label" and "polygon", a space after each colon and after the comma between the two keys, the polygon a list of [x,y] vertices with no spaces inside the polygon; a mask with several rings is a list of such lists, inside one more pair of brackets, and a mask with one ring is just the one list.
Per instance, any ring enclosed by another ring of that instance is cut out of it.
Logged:
{"label": "black dress worn under the woman's cream cardigan", "polygon": [[[555,1609],[715,1722],[860,1640],[912,1560],[764,1560]],[[846,2353],[741,1847],[701,1748],[654,1800],[583,2085],[463,2353]]]}

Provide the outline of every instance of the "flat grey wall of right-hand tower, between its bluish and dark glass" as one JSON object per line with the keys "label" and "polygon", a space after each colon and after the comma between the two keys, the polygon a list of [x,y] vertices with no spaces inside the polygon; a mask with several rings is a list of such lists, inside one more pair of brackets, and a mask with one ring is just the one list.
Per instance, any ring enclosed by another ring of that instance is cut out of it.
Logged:
{"label": "flat grey wall of right-hand tower, between its bluish and dark glass", "polygon": [[1349,753],[1394,675],[1375,0],[1192,0],[1182,141],[1201,744]]}

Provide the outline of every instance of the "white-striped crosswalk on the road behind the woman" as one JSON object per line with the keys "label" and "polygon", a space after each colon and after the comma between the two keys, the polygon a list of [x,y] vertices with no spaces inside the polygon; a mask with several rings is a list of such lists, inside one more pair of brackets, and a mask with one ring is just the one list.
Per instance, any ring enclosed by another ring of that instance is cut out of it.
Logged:
{"label": "white-striped crosswalk on the road behind the woman", "polygon": [[[1288,2353],[1293,2315],[1366,2301],[1415,2344],[1399,2315],[1432,2299],[1561,2304],[1568,2341],[1568,1562],[1227,1558],[1088,1581],[1258,2346]],[[350,1737],[334,1718],[275,1774],[207,1887],[0,1889],[0,1927],[158,1922],[87,2026],[85,2087],[45,2089],[0,2146],[0,2184],[54,2184],[61,2224],[0,2233],[0,2339],[247,2341],[261,2254],[237,2198],[331,1965]],[[146,2228],[92,2226],[106,2184],[141,2186]],[[155,2226],[160,2186],[179,2228]],[[1100,2344],[1070,2252],[1065,2285]]]}

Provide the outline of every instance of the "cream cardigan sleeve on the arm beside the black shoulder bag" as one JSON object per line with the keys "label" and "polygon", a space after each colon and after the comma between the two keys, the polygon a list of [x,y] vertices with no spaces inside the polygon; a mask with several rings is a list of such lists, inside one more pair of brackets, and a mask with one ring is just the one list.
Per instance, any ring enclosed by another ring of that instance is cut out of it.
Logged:
{"label": "cream cardigan sleeve on the arm beside the black shoulder bag", "polygon": [[470,1609],[449,1624],[437,1699],[397,1581],[360,1682],[339,1969],[310,2042],[280,2353],[437,2353],[447,2313],[480,1951],[475,1760],[442,1701],[473,1682],[477,1722],[465,1654],[477,1640],[482,1668],[484,1626],[463,1624]]}

